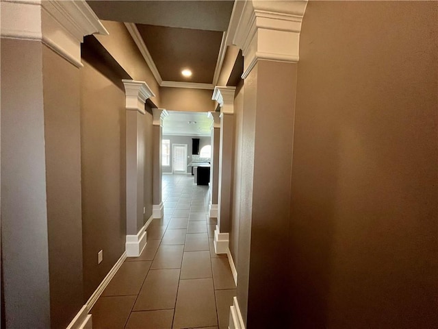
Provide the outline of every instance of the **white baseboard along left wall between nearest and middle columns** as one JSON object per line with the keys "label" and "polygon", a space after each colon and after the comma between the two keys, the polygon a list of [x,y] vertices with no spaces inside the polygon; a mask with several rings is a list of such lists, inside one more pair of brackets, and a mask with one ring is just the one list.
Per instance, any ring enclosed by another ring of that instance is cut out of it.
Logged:
{"label": "white baseboard along left wall between nearest and middle columns", "polygon": [[86,304],[79,310],[77,315],[73,318],[73,320],[68,324],[67,329],[92,329],[92,317],[91,314],[88,314],[90,310],[93,308],[94,304],[96,304],[99,297],[101,297],[103,291],[110,284],[110,281],[116,275],[120,266],[122,266],[123,262],[126,259],[126,252],[118,258],[116,264],[110,269],[105,278],[103,278],[99,287],[94,291],[94,293],[90,296]]}

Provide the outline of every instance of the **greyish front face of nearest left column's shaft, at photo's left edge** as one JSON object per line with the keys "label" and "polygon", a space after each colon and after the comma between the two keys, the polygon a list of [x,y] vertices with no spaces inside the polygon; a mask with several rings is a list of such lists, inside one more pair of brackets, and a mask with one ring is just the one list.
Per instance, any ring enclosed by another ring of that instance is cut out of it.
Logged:
{"label": "greyish front face of nearest left column's shaft, at photo's left edge", "polygon": [[1,38],[1,252],[9,328],[50,327],[42,47]]}

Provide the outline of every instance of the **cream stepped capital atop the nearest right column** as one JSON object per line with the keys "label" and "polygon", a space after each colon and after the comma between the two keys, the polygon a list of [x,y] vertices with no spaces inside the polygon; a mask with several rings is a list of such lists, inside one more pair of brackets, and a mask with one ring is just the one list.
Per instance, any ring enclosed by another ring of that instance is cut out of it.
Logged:
{"label": "cream stepped capital atop the nearest right column", "polygon": [[242,49],[245,78],[258,60],[298,62],[305,1],[247,0],[236,6],[230,26],[233,44]]}

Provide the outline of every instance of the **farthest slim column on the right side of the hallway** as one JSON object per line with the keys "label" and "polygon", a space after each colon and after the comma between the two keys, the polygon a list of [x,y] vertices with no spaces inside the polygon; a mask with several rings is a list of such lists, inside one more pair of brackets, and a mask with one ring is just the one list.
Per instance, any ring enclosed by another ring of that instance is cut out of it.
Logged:
{"label": "farthest slim column on the right side of the hallway", "polygon": [[209,112],[211,119],[211,172],[210,188],[211,199],[209,204],[209,217],[218,217],[218,191],[219,191],[219,150],[220,150],[220,113]]}

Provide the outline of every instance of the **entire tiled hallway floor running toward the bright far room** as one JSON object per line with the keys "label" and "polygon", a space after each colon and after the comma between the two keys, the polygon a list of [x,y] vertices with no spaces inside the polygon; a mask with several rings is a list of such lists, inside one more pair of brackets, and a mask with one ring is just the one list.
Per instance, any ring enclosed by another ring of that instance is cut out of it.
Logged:
{"label": "entire tiled hallway floor running toward the bright far room", "polygon": [[163,175],[163,202],[140,257],[125,260],[92,308],[94,329],[228,328],[235,284],[214,252],[208,187]]}

